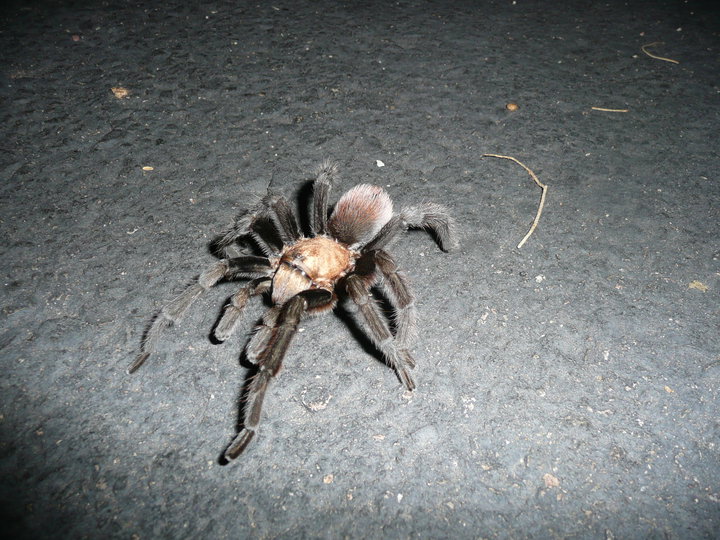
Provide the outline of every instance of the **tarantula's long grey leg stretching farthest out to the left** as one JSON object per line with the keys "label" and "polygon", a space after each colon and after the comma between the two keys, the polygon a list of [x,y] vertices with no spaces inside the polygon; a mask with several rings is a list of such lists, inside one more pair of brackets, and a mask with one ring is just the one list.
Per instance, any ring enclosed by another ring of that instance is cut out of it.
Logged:
{"label": "tarantula's long grey leg stretching farthest out to the left", "polygon": [[272,266],[268,259],[252,255],[222,259],[206,268],[193,284],[170,303],[163,306],[155,316],[143,337],[140,354],[130,364],[127,372],[134,373],[137,371],[155,351],[162,333],[173,324],[179,323],[192,303],[218,281],[223,278],[268,277],[271,273]]}

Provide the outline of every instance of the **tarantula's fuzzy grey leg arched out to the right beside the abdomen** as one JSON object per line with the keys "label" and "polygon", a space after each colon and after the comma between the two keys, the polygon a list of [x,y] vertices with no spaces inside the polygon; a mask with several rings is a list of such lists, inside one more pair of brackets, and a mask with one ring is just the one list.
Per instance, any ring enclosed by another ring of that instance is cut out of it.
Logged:
{"label": "tarantula's fuzzy grey leg arched out to the right beside the abdomen", "polygon": [[450,251],[458,246],[455,220],[447,209],[440,204],[423,203],[406,206],[399,214],[393,216],[375,238],[365,244],[363,252],[389,246],[407,229],[426,229],[432,232],[443,251]]}

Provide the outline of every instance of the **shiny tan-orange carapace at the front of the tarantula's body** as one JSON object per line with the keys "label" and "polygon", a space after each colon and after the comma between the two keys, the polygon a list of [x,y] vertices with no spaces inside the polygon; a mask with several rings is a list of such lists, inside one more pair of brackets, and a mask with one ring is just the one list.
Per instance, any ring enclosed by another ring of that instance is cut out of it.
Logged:
{"label": "shiny tan-orange carapace at the front of the tarantula's body", "polygon": [[312,288],[332,291],[335,283],[351,271],[357,254],[328,236],[301,238],[287,246],[273,278],[272,300],[284,304]]}

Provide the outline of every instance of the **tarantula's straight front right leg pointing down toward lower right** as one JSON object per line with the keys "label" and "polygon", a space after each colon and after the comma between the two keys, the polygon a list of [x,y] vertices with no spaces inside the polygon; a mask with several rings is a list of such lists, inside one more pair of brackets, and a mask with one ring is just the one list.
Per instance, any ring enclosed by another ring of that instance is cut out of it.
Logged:
{"label": "tarantula's straight front right leg pointing down toward lower right", "polygon": [[398,350],[396,347],[390,327],[377,302],[370,294],[371,283],[358,274],[352,274],[347,278],[346,288],[352,301],[360,308],[370,339],[383,354],[385,361],[395,370],[405,388],[414,390],[415,382],[410,376],[408,368],[414,366],[415,361],[407,350]]}

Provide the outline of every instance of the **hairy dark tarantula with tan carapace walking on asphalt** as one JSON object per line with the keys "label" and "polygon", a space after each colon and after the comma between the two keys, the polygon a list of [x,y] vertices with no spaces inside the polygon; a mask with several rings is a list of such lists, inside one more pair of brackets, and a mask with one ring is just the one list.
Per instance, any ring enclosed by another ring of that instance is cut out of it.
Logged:
{"label": "hairy dark tarantula with tan carapace walking on asphalt", "polygon": [[[140,354],[128,368],[128,373],[135,372],[154,352],[162,332],[180,322],[190,305],[219,281],[249,280],[230,297],[214,328],[219,342],[233,334],[251,297],[269,293],[272,307],[245,346],[245,357],[256,366],[256,372],[244,391],[242,427],[224,452],[227,462],[237,458],[253,439],[268,384],[280,370],[303,315],[330,311],[339,297],[349,297],[357,306],[359,318],[384,360],[407,390],[415,388],[409,372],[415,360],[408,350],[415,335],[414,297],[386,248],[408,228],[423,228],[434,234],[443,251],[449,251],[458,245],[454,221],[445,207],[431,202],[406,206],[394,214],[389,195],[369,184],[350,189],[330,214],[328,197],[336,178],[333,163],[326,161],[317,170],[309,236],[301,234],[288,202],[270,191],[240,214],[217,240],[224,258],[161,309],[143,336]],[[250,239],[264,256],[231,256],[233,244],[242,239]],[[394,332],[373,297],[375,286],[395,312]]]}

